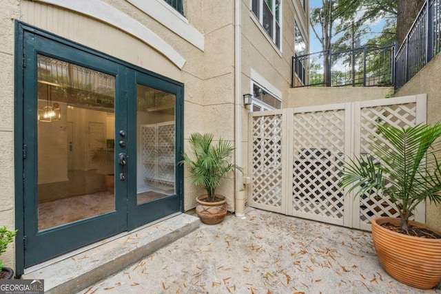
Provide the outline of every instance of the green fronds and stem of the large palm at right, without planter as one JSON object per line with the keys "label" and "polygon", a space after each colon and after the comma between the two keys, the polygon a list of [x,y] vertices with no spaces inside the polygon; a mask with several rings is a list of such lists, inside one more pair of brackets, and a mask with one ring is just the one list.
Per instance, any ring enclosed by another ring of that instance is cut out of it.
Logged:
{"label": "green fronds and stem of the large palm at right, without planter", "polygon": [[[388,197],[400,214],[400,229],[409,229],[409,216],[420,202],[441,202],[440,154],[441,124],[393,127],[378,125],[378,134],[387,144],[371,143],[374,154],[350,160],[345,165],[340,185],[366,196],[376,191]],[[436,142],[435,142],[436,141]]]}

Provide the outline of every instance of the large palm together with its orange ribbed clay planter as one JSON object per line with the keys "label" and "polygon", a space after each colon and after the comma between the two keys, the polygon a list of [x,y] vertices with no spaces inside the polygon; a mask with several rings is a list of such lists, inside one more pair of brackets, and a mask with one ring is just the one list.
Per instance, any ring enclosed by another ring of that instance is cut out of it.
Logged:
{"label": "large palm together with its orange ribbed clay planter", "polygon": [[345,165],[340,184],[355,196],[388,198],[400,218],[371,220],[380,264],[396,280],[432,288],[441,280],[441,233],[409,220],[418,204],[441,202],[441,124],[393,127],[378,125],[373,155]]}

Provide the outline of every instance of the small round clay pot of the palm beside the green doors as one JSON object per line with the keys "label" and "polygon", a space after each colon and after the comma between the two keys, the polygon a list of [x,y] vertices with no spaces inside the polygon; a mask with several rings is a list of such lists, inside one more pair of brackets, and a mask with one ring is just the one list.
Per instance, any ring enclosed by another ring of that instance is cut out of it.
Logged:
{"label": "small round clay pot of the palm beside the green doors", "polygon": [[223,200],[218,202],[205,201],[208,195],[201,195],[196,198],[196,213],[204,224],[218,224],[227,215],[227,198],[216,195]]}

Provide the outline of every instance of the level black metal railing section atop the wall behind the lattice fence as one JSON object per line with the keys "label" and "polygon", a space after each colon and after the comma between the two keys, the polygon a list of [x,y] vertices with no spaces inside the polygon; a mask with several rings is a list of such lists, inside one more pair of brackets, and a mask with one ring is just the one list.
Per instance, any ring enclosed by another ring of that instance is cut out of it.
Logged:
{"label": "level black metal railing section atop the wall behind the lattice fence", "polygon": [[341,52],[331,52],[329,49],[294,56],[291,87],[392,85],[395,47],[363,46]]}

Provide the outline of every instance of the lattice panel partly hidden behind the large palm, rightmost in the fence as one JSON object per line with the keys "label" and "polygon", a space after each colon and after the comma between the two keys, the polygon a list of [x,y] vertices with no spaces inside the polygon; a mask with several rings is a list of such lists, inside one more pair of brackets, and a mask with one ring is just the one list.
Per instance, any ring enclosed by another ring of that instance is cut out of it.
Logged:
{"label": "lattice panel partly hidden behind the large palm, rightmost in the fence", "polygon": [[[372,154],[370,143],[375,140],[382,145],[387,143],[378,136],[377,125],[407,127],[416,125],[416,103],[363,107],[360,110],[360,155]],[[369,225],[376,216],[399,217],[391,207],[391,200],[378,197],[375,191],[360,199],[360,222]],[[411,219],[413,216],[411,216]]]}

